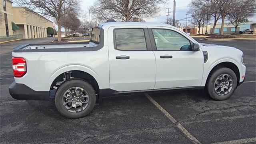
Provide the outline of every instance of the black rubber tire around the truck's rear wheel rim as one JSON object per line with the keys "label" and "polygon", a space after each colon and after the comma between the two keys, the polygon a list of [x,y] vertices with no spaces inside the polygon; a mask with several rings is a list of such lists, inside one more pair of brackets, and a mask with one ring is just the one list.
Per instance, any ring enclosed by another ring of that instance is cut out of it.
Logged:
{"label": "black rubber tire around the truck's rear wheel rim", "polygon": [[[89,96],[88,105],[84,110],[81,110],[80,112],[70,112],[68,111],[68,109],[65,108],[63,104],[64,94],[66,93],[67,90],[73,87],[83,88],[83,90],[85,90]],[[55,94],[55,106],[58,112],[60,112],[62,116],[65,116],[67,118],[82,118],[88,115],[94,108],[95,103],[96,103],[95,90],[88,82],[84,80],[69,80],[67,82],[64,82],[61,86],[59,86]]]}

